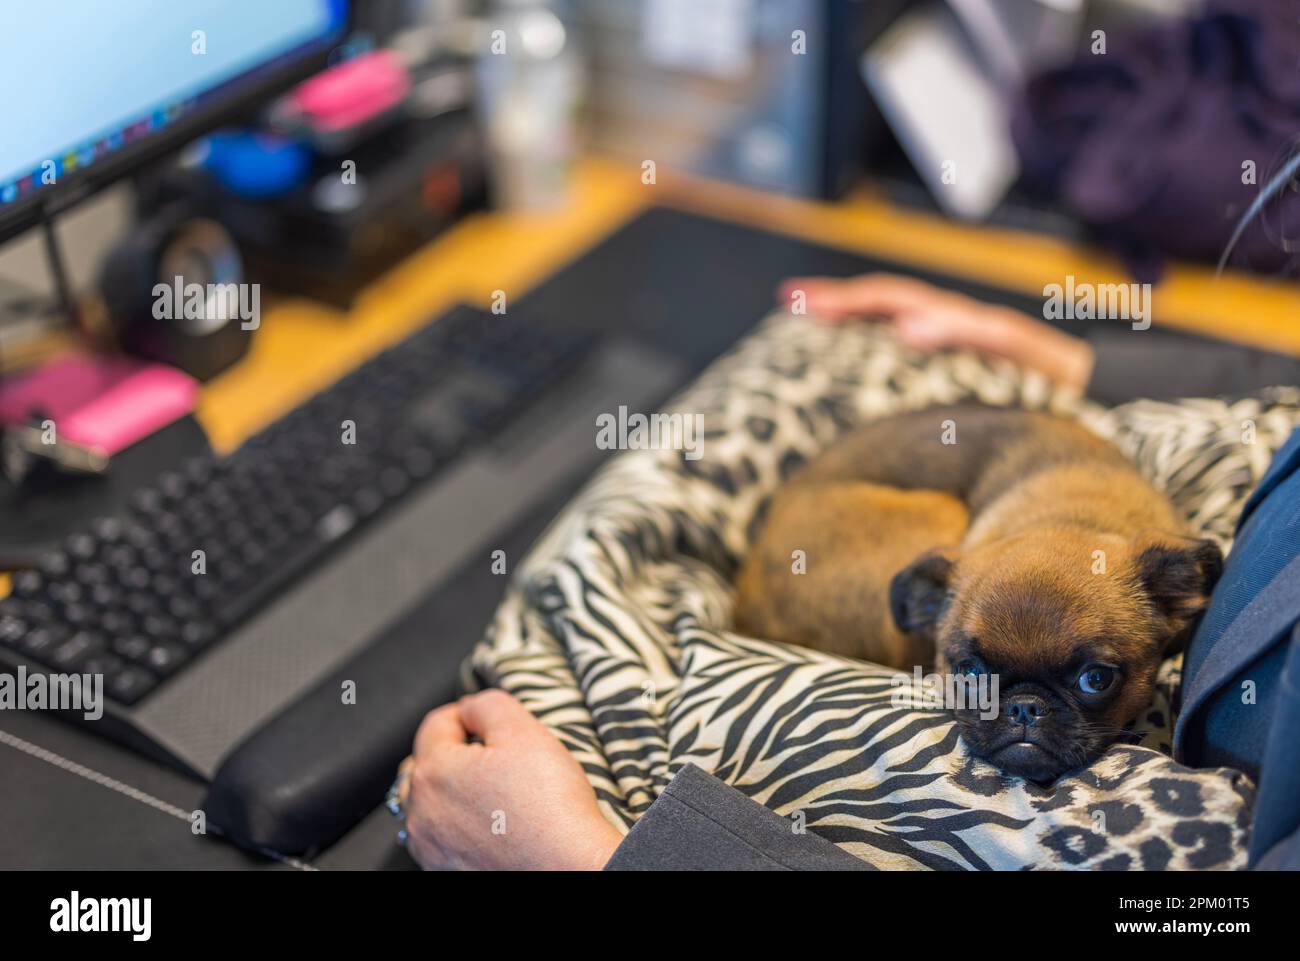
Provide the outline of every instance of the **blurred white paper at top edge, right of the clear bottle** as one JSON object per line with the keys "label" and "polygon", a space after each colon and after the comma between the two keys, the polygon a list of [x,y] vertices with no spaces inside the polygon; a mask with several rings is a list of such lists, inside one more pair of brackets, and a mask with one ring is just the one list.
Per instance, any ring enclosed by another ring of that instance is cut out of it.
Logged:
{"label": "blurred white paper at top edge, right of the clear bottle", "polygon": [[753,0],[646,0],[641,51],[659,66],[737,79],[754,60]]}

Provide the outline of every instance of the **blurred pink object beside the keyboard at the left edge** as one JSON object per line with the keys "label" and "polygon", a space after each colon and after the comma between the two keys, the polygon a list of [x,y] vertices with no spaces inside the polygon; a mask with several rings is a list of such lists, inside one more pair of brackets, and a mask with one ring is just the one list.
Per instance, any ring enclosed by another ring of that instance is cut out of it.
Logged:
{"label": "blurred pink object beside the keyboard at the left edge", "polygon": [[0,421],[39,412],[60,437],[112,456],[191,412],[198,397],[198,382],[174,368],[78,355],[0,384]]}

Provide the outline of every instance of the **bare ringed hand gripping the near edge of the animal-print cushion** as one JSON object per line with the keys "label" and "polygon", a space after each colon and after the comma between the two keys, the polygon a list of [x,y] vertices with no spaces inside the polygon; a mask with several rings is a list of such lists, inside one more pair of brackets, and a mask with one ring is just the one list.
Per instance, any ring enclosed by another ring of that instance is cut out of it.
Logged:
{"label": "bare ringed hand gripping the near edge of the animal-print cushion", "polygon": [[623,840],[577,761],[502,691],[430,711],[402,771],[407,850],[425,869],[599,870]]}

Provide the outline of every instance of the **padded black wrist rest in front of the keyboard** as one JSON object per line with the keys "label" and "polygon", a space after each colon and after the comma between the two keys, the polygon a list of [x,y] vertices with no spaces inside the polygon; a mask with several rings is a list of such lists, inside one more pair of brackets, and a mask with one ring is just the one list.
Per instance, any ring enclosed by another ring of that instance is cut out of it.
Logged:
{"label": "padded black wrist rest in front of the keyboard", "polygon": [[[584,481],[562,484],[494,549],[521,558]],[[473,558],[246,739],[208,788],[209,828],[250,850],[304,857],[342,837],[384,801],[425,714],[458,696],[506,584],[490,557]],[[355,704],[343,702],[344,681]]]}

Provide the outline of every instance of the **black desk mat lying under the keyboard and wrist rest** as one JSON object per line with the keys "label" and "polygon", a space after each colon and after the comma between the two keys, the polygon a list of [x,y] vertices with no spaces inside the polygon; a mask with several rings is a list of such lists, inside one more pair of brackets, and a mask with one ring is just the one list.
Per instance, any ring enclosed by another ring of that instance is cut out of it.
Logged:
{"label": "black desk mat lying under the keyboard and wrist rest", "polygon": [[[783,278],[881,269],[1041,313],[1041,300],[1032,296],[670,208],[638,216],[520,303],[560,323],[644,338],[698,371],[771,309]],[[1062,326],[1082,333],[1086,325]],[[530,542],[552,511],[545,508],[521,525],[524,542]],[[480,588],[499,592],[498,579],[458,589],[464,597]],[[490,609],[490,598],[480,601]],[[194,836],[176,811],[152,806],[150,798],[182,813],[198,806],[203,785],[174,771],[43,715],[0,714],[0,732],[57,756],[40,759],[0,743],[0,784],[5,785],[0,792],[0,867],[292,867],[214,837]],[[73,772],[69,762],[117,784]],[[131,796],[131,791],[148,797]],[[382,809],[312,863],[325,870],[411,866],[394,847],[393,823]]]}

